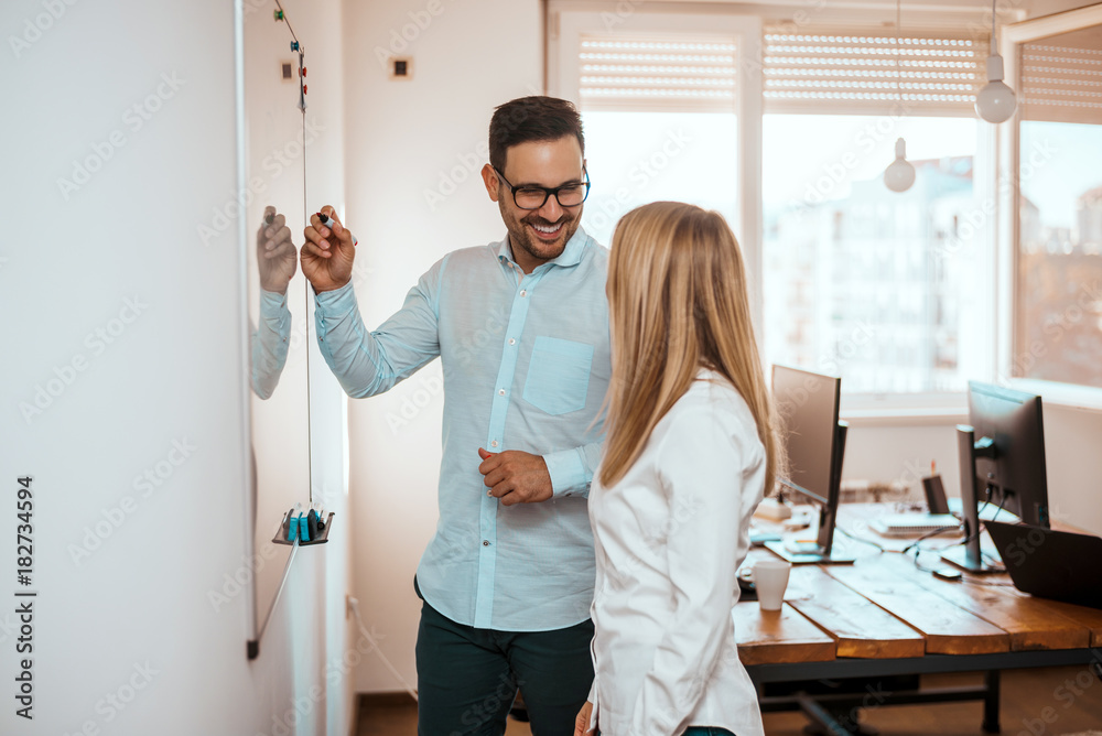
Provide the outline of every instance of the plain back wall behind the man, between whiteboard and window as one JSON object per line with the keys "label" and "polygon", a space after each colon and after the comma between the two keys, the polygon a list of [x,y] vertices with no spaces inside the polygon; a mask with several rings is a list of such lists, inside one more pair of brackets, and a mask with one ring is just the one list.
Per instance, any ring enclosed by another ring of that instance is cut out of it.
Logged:
{"label": "plain back wall behind the man, between whiteboard and window", "polygon": [[[478,176],[487,158],[477,151],[494,107],[541,90],[540,15],[537,0],[349,2],[345,10],[347,223],[360,240],[357,262],[370,269],[356,290],[374,327],[444,253],[505,235]],[[413,57],[412,80],[387,79],[376,50],[389,54],[392,42]],[[444,193],[435,208],[426,191]],[[439,377],[433,362],[349,408],[354,595],[410,683],[420,616],[413,573],[436,523]],[[402,689],[377,660],[359,668],[356,685]]]}

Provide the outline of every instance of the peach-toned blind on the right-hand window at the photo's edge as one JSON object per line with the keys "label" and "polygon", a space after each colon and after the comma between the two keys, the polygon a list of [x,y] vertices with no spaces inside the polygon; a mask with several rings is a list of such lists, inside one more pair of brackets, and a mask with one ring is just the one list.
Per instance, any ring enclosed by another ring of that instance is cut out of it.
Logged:
{"label": "peach-toned blind on the right-hand window at the photo's edge", "polygon": [[1095,35],[1022,46],[1022,116],[1026,120],[1102,125],[1102,48]]}

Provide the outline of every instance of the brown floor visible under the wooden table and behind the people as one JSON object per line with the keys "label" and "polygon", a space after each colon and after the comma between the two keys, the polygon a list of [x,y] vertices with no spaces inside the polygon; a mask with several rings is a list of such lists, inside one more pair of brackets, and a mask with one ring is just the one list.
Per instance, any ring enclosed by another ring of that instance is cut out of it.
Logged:
{"label": "brown floor visible under the wooden table and behind the people", "polygon": [[[1088,680],[1088,677],[1090,678]],[[939,675],[925,688],[977,684],[976,675]],[[1083,667],[1016,670],[1003,673],[1002,727],[1005,736],[1102,736],[1102,681]],[[981,736],[981,704],[898,705],[869,708],[862,722],[884,736]],[[800,736],[807,721],[798,713],[765,716],[767,736]],[[364,695],[357,736],[415,736],[417,705],[409,695]],[[528,724],[509,719],[506,736],[531,736]]]}

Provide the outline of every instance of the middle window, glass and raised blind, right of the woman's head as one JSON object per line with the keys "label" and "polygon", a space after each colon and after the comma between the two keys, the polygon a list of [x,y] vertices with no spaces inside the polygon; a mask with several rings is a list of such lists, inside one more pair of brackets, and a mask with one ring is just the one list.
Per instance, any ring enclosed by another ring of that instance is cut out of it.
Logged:
{"label": "middle window, glass and raised blind, right of the woman's head", "polygon": [[[960,230],[980,210],[985,53],[943,34],[767,30],[767,362],[840,375],[851,394],[960,391],[975,377],[988,293],[972,278],[983,249]],[[900,137],[917,176],[895,193],[883,174]]]}

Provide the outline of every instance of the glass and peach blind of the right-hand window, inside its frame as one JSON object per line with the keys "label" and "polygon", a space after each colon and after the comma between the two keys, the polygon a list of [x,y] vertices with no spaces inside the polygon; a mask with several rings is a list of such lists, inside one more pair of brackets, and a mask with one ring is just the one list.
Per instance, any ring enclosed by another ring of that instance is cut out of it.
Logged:
{"label": "glass and peach blind of the right-hand window, inside its frame", "polygon": [[1102,388],[1102,29],[1020,46],[1015,378]]}

